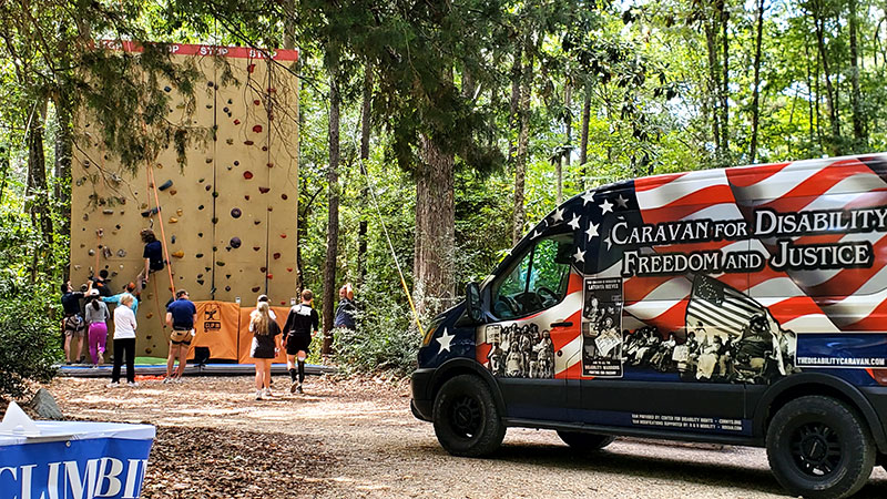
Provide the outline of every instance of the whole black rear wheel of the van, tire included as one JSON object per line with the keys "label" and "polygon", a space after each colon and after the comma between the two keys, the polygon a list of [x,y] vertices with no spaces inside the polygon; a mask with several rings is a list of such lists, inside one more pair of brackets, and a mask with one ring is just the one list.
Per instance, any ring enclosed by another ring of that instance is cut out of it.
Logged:
{"label": "whole black rear wheel of the van, tire included", "polygon": [[868,480],[875,457],[865,420],[830,397],[792,400],[776,413],[767,428],[769,467],[776,480],[794,496],[852,496]]}

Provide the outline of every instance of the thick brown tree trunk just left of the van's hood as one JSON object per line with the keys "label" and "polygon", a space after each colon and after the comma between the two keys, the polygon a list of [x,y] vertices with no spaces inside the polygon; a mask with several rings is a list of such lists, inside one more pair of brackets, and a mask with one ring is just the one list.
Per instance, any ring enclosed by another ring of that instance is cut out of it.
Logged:
{"label": "thick brown tree trunk just left of the van's hood", "polygon": [[422,161],[416,175],[416,307],[436,315],[451,305],[456,236],[453,156],[438,139],[424,135]]}

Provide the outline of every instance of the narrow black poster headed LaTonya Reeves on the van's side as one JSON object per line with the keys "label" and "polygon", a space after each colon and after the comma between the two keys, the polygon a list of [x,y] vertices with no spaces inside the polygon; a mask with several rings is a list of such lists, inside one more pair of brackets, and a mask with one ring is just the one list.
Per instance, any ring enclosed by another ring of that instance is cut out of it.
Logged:
{"label": "narrow black poster headed LaTonya Reeves on the van's side", "polygon": [[622,279],[585,279],[582,303],[582,375],[621,377]]}

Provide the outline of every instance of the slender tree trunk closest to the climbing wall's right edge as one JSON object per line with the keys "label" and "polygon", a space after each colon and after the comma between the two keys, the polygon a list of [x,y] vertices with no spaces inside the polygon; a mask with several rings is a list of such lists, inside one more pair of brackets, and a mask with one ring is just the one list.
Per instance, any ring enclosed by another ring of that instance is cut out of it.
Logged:
{"label": "slender tree trunk closest to the climbing wall's right edge", "polygon": [[326,232],[326,261],[324,262],[324,345],[322,355],[329,355],[333,338],[333,312],[336,307],[336,257],[339,243],[339,83],[336,63],[329,69],[329,169],[326,172],[328,192],[328,222]]}

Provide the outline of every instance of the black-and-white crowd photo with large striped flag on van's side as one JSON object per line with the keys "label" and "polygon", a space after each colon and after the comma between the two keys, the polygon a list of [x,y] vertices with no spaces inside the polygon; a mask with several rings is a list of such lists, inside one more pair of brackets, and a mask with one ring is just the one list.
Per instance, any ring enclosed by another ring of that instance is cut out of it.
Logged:
{"label": "black-and-white crowd photo with large striped flag on van's side", "polygon": [[625,366],[677,373],[681,379],[769,384],[797,371],[797,338],[752,297],[699,274],[684,330],[645,325],[624,332]]}

